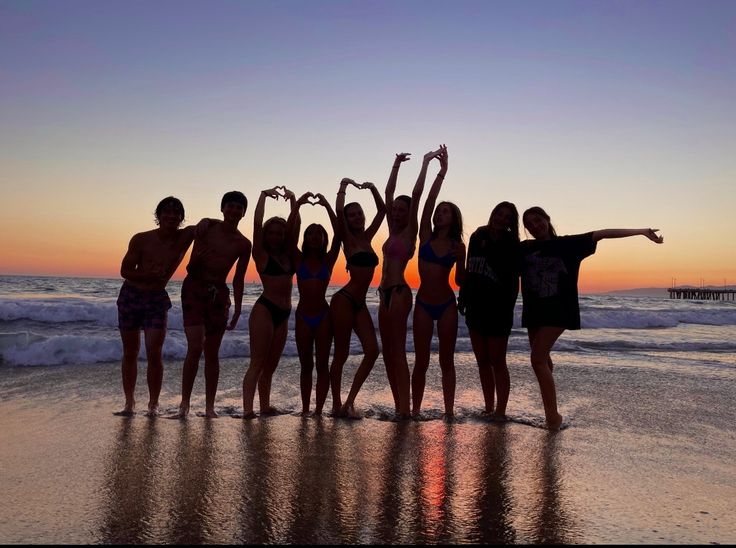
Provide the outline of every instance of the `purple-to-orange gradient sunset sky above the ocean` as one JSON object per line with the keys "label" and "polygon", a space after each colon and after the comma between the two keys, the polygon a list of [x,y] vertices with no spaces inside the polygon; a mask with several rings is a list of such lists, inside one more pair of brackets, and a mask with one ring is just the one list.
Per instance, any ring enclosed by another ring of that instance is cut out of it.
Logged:
{"label": "purple-to-orange gradient sunset sky above the ocean", "polygon": [[664,234],[601,242],[584,292],[733,284],[735,28],[733,1],[0,0],[0,273],[116,277],[167,195],[194,223],[241,190],[251,237],[277,184],[383,190],[411,152],[409,194],[446,143],[466,235],[541,205]]}

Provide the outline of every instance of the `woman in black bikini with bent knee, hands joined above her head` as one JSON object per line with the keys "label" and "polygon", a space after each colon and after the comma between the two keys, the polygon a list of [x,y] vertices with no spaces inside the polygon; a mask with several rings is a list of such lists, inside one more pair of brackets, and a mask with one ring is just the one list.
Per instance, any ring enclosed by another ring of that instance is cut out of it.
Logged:
{"label": "woman in black bikini with bent knee, hands joined above her head", "polygon": [[[345,192],[348,185],[358,189],[368,189],[376,203],[376,216],[366,229],[363,208],[357,202],[345,205]],[[373,273],[378,266],[378,256],[371,247],[371,240],[386,215],[386,206],[373,183],[357,184],[352,179],[343,179],[337,193],[336,204],[338,234],[343,242],[347,270],[350,273],[348,283],[338,290],[330,301],[330,318],[335,337],[335,351],[330,367],[330,384],[332,387],[332,412],[336,416],[359,418],[355,411],[355,398],[360,387],[368,378],[373,365],[378,359],[378,340],[365,296],[368,286],[373,280]],[[350,392],[342,404],[340,389],[342,385],[342,368],[350,351],[350,335],[355,331],[363,346],[363,360],[360,362]]]}

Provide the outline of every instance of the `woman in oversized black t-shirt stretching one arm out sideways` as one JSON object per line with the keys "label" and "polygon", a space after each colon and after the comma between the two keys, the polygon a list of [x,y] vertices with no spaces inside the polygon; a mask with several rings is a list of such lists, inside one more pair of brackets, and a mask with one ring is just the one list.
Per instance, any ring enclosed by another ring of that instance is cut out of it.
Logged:
{"label": "woman in oversized black t-shirt stretching one arm out sideways", "polygon": [[521,325],[529,331],[531,362],[542,393],[547,427],[557,430],[562,415],[550,352],[565,329],[580,329],[578,273],[585,257],[595,253],[604,238],[646,236],[661,244],[659,229],[609,228],[574,236],[557,236],[550,217],[541,207],[524,212],[524,228],[534,238],[521,243],[521,292],[524,300]]}

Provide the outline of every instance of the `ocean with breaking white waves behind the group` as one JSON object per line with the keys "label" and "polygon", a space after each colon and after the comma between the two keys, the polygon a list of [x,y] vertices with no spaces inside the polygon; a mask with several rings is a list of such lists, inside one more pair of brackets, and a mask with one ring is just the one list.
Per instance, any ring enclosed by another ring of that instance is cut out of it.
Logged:
{"label": "ocean with breaking white waves behind the group", "polygon": [[[115,301],[121,280],[0,276],[0,366],[95,364],[117,361],[122,345],[117,330]],[[328,299],[338,287],[330,287]],[[164,359],[183,360],[186,337],[182,328],[181,282],[168,287],[172,309],[164,344]],[[261,292],[258,284],[246,285],[240,323],[223,340],[223,358],[248,358],[248,316]],[[293,302],[298,294],[294,289]],[[369,290],[366,300],[378,336],[378,296]],[[687,301],[660,297],[582,295],[582,327],[567,331],[555,346],[556,353],[570,353],[592,360],[636,357],[647,362],[671,361],[682,367],[715,369],[734,366],[736,354],[736,302]],[[297,356],[294,315],[284,356]],[[516,305],[511,353],[528,350],[521,328],[521,296]],[[411,314],[407,350],[413,352]],[[436,339],[435,348],[436,350]],[[460,318],[456,351],[471,352],[465,323]],[[141,349],[145,356],[145,348]],[[355,337],[351,353],[360,352]]]}

